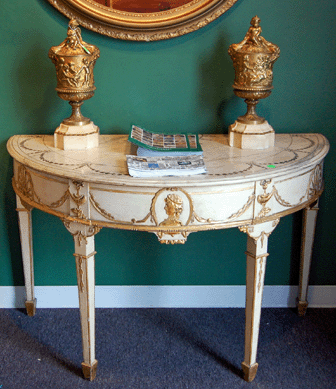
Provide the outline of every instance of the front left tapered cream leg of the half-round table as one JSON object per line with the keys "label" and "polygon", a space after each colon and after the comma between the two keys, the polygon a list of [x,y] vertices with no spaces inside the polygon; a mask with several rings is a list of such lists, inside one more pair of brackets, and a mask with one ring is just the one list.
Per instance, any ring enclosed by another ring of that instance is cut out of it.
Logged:
{"label": "front left tapered cream leg of the half-round table", "polygon": [[97,372],[95,359],[95,263],[94,235],[96,227],[64,222],[75,241],[79,310],[82,327],[84,377],[94,380]]}

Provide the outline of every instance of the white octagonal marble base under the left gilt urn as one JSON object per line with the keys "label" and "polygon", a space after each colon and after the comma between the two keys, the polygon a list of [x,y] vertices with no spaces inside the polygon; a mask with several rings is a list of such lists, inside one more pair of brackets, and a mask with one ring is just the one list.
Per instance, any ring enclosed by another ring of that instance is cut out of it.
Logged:
{"label": "white octagonal marble base under the left gilt urn", "polygon": [[61,123],[54,133],[54,147],[62,150],[85,150],[99,146],[99,128],[90,122],[84,126]]}

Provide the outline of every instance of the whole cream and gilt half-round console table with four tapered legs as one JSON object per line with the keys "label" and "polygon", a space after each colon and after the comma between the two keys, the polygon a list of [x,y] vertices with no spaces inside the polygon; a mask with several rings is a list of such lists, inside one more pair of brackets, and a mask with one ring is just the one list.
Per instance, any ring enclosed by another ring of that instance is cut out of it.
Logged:
{"label": "whole cream and gilt half-round console table with four tapered legs", "polygon": [[86,151],[53,147],[50,135],[16,135],[7,147],[14,158],[26,308],[33,316],[34,270],[31,210],[59,217],[74,238],[83,338],[82,369],[93,380],[95,359],[94,236],[102,227],[148,231],[161,243],[184,243],[192,232],[238,227],[247,235],[246,381],[256,375],[268,237],[279,219],[301,209],[303,232],[298,308],[307,308],[307,288],[323,159],[329,145],[319,134],[276,135],[275,147],[242,150],[227,135],[203,135],[206,175],[134,178],[127,135],[101,135]]}

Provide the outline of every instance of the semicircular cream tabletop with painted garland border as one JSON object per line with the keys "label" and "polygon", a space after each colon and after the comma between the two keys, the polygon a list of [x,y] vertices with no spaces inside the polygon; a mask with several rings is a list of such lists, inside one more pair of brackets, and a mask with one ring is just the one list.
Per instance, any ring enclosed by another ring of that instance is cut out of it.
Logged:
{"label": "semicircular cream tabletop with painted garland border", "polygon": [[11,156],[27,167],[86,182],[132,186],[195,185],[206,186],[264,179],[307,168],[323,159],[329,150],[321,134],[277,134],[275,146],[266,150],[230,147],[223,134],[200,135],[206,175],[187,177],[134,178],[128,174],[127,154],[136,147],[127,135],[101,135],[98,148],[60,150],[53,146],[52,135],[15,135],[8,141]]}

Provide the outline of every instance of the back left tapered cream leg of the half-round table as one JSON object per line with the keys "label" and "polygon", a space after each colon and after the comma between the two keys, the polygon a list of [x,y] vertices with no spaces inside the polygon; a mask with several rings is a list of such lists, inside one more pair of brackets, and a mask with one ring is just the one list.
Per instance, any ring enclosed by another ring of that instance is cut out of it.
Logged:
{"label": "back left tapered cream leg of the half-round table", "polygon": [[36,298],[34,295],[34,259],[31,211],[33,207],[23,202],[16,195],[16,210],[18,211],[23,274],[26,288],[26,311],[28,316],[36,313]]}

